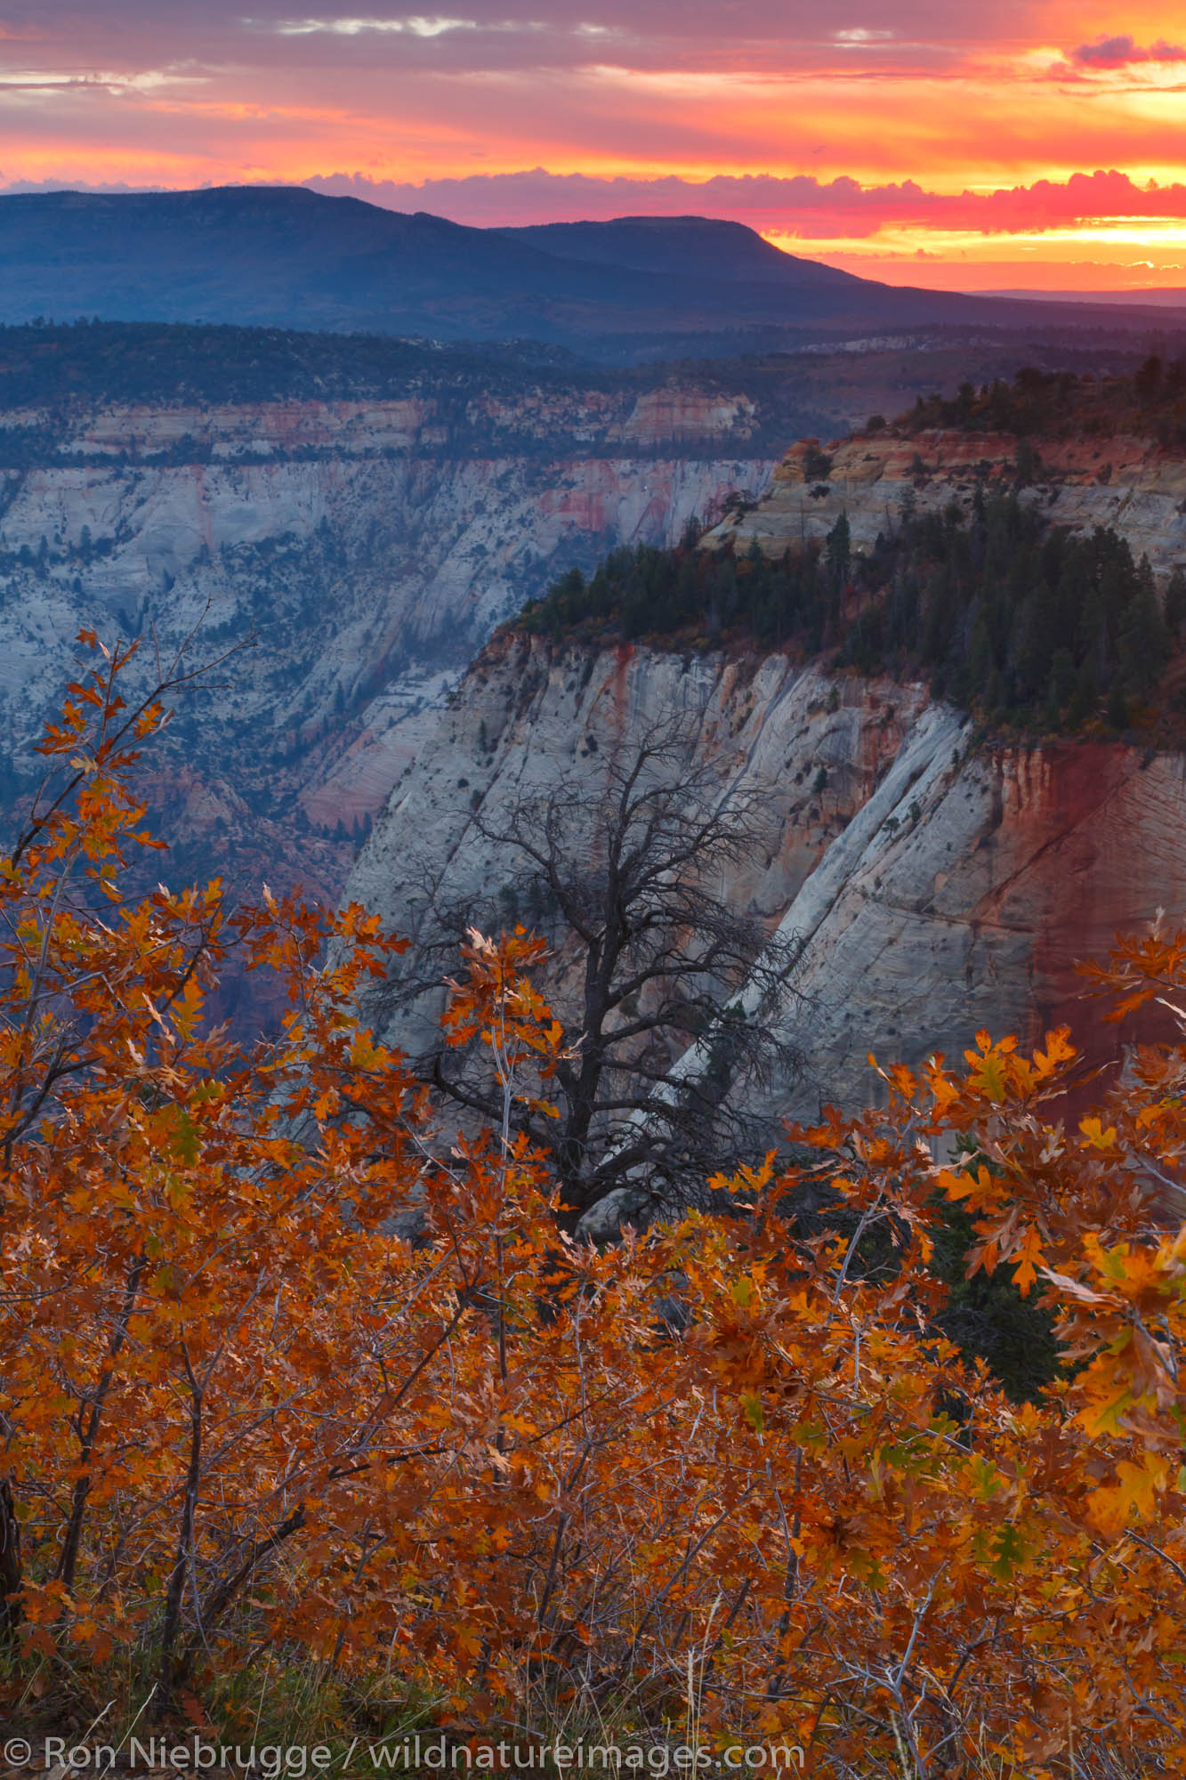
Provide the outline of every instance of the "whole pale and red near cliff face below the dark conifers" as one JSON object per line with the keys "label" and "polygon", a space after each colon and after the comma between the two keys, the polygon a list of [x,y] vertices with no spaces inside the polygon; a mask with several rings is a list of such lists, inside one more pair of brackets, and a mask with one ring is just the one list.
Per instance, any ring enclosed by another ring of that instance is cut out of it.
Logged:
{"label": "whole pale and red near cliff face below the dark conifers", "polygon": [[[801,945],[782,1007],[760,1016],[800,1040],[808,1070],[778,1084],[771,1111],[857,1104],[874,1088],[867,1052],[958,1056],[981,1027],[1036,1040],[1068,1022],[1101,1063],[1134,1036],[1101,1024],[1074,963],[1158,908],[1186,917],[1186,762],[1122,744],[978,753],[919,685],[830,682],[784,657],[497,639],[347,894],[415,934],[426,883],[459,897],[497,886],[506,862],[477,810],[497,826],[500,806],[577,765],[597,789],[614,751],[673,710],[695,717],[689,765],[716,762],[721,796],[759,783],[780,835],[727,885]],[[383,993],[369,1013],[415,1043]]]}

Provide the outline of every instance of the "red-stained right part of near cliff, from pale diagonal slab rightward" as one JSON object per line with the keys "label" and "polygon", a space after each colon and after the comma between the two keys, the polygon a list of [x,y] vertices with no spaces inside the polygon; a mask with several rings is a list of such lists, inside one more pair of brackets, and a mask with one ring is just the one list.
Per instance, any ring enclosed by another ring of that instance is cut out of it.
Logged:
{"label": "red-stained right part of near cliff, from pale diagonal slab rightward", "polygon": [[807,942],[814,1011],[791,1018],[826,1096],[867,1086],[869,1050],[958,1056],[981,1027],[1036,1043],[1068,1024],[1093,1064],[1161,1031],[1102,1024],[1076,963],[1159,908],[1186,917],[1186,762],[1120,744],[965,751],[954,714],[928,710],[784,917]]}

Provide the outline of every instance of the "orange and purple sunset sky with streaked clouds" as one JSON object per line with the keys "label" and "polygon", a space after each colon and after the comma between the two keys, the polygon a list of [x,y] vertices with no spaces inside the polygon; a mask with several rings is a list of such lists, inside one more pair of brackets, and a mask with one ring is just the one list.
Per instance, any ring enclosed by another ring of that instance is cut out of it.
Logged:
{"label": "orange and purple sunset sky with streaked clouds", "polygon": [[735,217],[865,276],[1186,287],[1186,7],[0,0],[0,187]]}

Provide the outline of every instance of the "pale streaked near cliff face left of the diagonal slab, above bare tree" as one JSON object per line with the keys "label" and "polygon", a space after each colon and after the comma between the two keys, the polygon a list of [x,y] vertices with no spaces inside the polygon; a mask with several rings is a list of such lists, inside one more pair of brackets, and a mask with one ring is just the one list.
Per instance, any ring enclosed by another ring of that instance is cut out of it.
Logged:
{"label": "pale streaked near cliff face left of the diagonal slab, above bare tree", "polygon": [[[347,885],[415,934],[424,885],[447,899],[497,888],[506,860],[477,828],[515,799],[579,778],[595,796],[614,756],[659,721],[689,719],[689,764],[712,760],[721,797],[760,783],[780,846],[734,870],[728,894],[773,926],[873,794],[924,703],[921,689],[832,682],[784,657],[725,662],[623,646],[563,650],[515,635],[479,655],[449,712],[395,787]],[[819,789],[823,771],[826,789]]]}

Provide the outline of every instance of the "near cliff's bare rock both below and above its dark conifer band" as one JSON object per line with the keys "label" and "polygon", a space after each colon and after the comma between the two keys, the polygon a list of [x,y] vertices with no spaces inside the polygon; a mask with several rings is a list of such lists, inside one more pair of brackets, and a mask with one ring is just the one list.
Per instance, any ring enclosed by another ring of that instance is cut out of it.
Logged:
{"label": "near cliff's bare rock both below and above its dark conifer band", "polygon": [[[702,548],[732,539],[739,554],[782,554],[841,513],[867,548],[903,502],[971,504],[978,473],[1011,473],[1017,459],[1013,438],[874,431],[833,441],[821,486],[803,475],[810,443]],[[1134,438],[1035,443],[1042,470],[1022,498],[1076,529],[1117,527],[1159,582],[1186,562],[1181,456]],[[671,714],[684,717],[687,771],[712,764],[723,801],[757,789],[778,837],[723,885],[796,949],[778,1007],[741,997],[807,1059],[771,1084],[771,1121],[876,1096],[869,1052],[958,1059],[981,1029],[1038,1043],[1067,1024],[1086,1072],[1163,1036],[1156,1011],[1106,1024],[1076,967],[1159,911],[1186,915],[1186,758],[1090,733],[994,735],[919,680],[832,675],[787,653],[504,630],[392,792],[347,894],[415,936],[426,886],[477,901],[508,876],[488,833],[516,801],[573,783],[597,799],[611,762]],[[415,1047],[390,990],[369,1016]],[[680,1068],[705,1057],[693,1045]]]}

